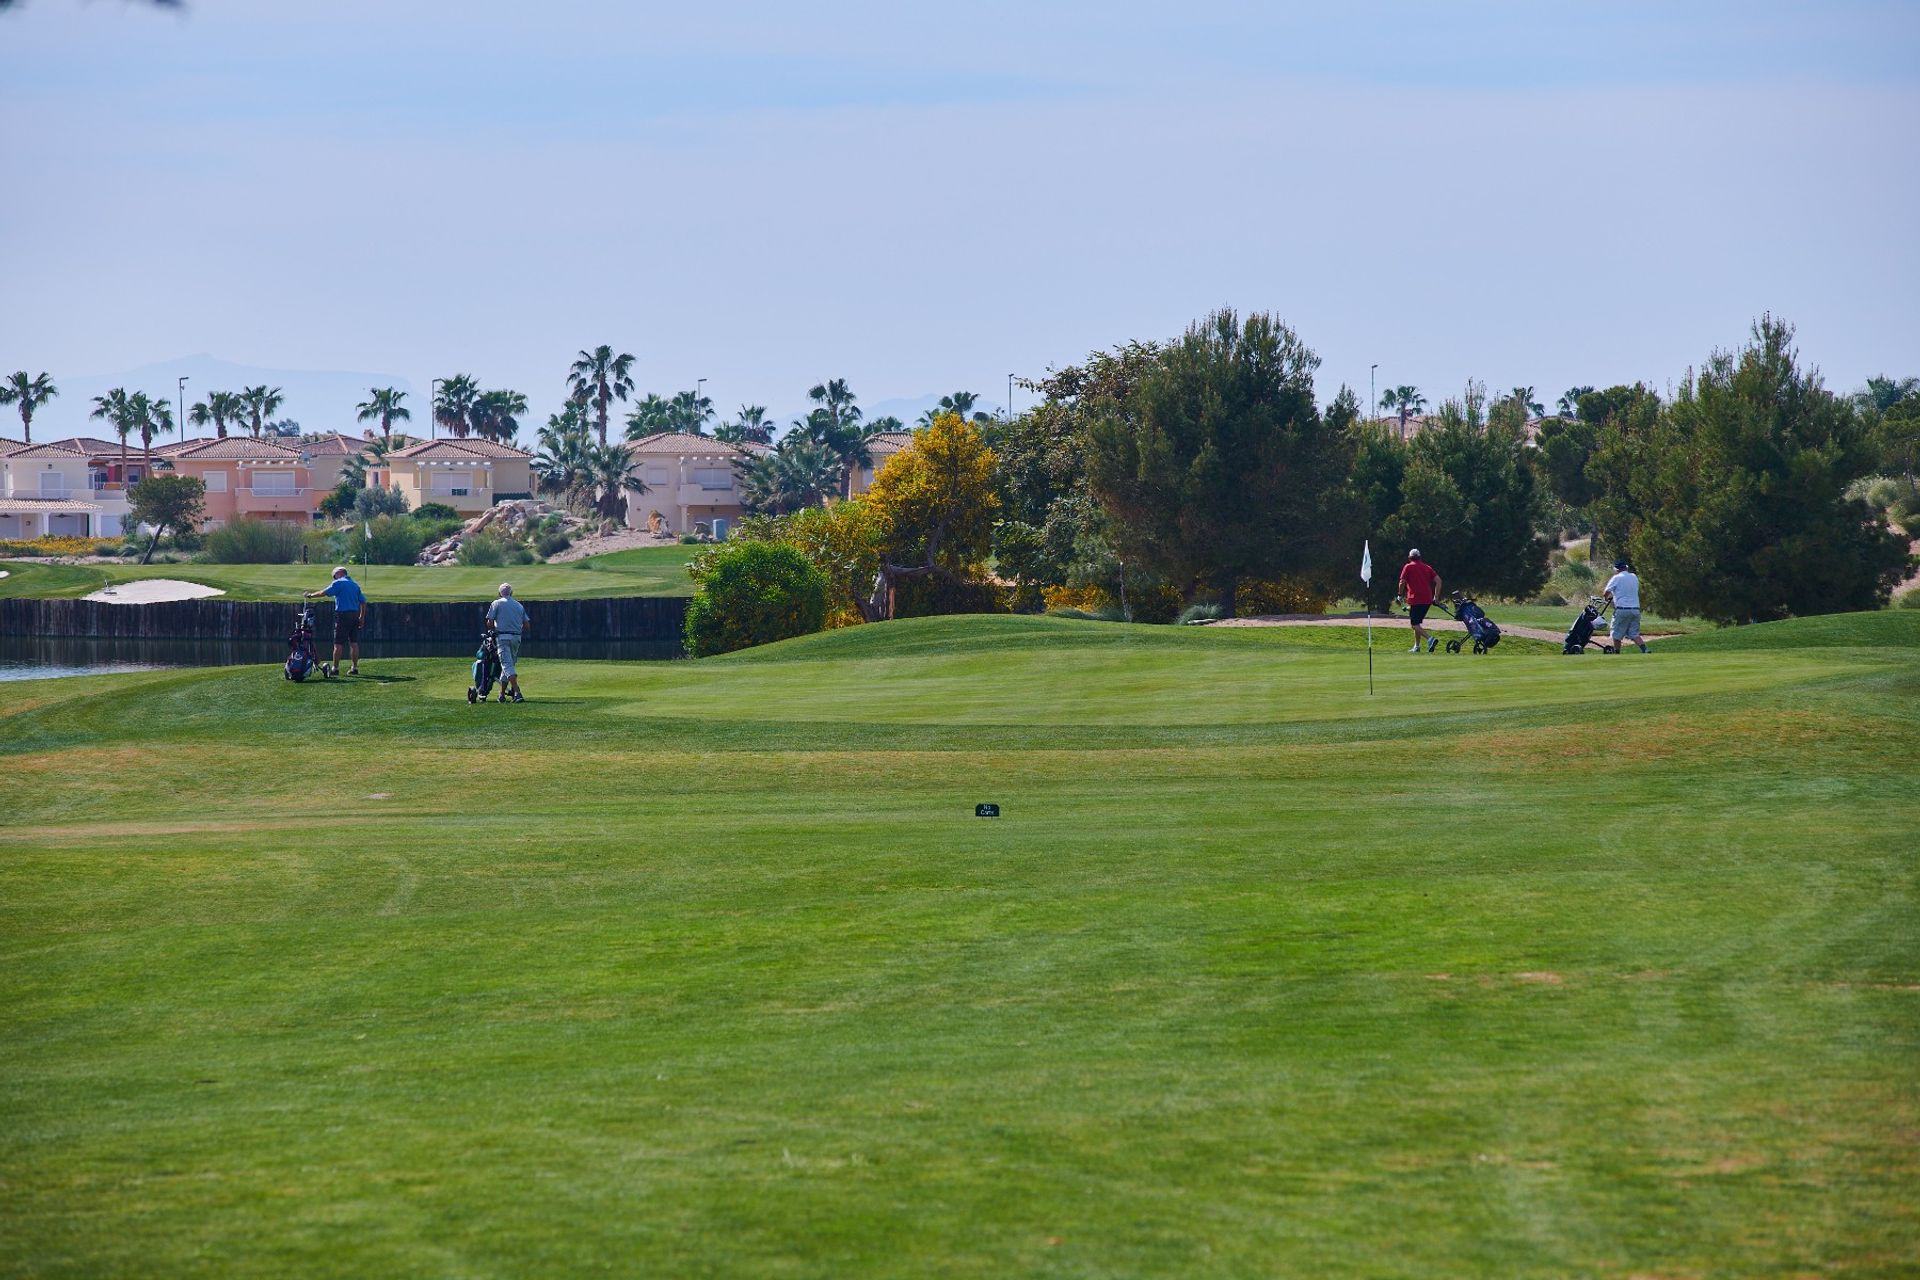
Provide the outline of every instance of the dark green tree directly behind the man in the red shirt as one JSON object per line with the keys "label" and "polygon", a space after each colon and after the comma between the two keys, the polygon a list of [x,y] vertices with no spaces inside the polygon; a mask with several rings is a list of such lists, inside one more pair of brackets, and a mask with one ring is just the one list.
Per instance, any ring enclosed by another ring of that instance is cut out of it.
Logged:
{"label": "dark green tree directly behind the man in the red shirt", "polygon": [[[1413,439],[1361,428],[1354,489],[1388,564],[1419,547],[1461,591],[1524,599],[1546,583],[1551,547],[1540,535],[1542,487],[1526,457],[1524,413],[1513,397],[1488,413],[1486,390],[1473,382]],[[1394,574],[1375,572],[1369,603],[1392,595]]]}

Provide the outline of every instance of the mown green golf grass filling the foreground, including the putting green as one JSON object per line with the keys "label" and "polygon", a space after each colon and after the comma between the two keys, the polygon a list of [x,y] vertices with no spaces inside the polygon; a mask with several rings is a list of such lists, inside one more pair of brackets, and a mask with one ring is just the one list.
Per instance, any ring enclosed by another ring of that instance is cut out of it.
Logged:
{"label": "mown green golf grass filling the foreground, including the putting green", "polygon": [[0,1274],[1914,1274],[1920,612],[1402,635],[10,685]]}

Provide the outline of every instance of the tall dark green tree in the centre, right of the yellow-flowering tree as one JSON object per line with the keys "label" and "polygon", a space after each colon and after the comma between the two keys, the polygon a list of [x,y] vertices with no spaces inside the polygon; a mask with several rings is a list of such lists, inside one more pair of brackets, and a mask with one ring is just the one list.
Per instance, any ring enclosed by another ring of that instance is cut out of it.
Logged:
{"label": "tall dark green tree in the centre, right of the yellow-flowering tree", "polygon": [[1348,432],[1313,399],[1319,357],[1265,313],[1217,311],[1160,353],[1125,399],[1104,401],[1087,474],[1129,562],[1219,593],[1242,578],[1325,581],[1359,541],[1346,497]]}

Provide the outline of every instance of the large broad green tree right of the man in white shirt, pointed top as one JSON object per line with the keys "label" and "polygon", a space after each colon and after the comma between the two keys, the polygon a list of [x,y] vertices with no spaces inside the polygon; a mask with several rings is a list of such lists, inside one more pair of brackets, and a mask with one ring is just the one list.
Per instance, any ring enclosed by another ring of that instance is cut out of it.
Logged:
{"label": "large broad green tree right of the man in white shirt, pointed top", "polygon": [[1907,539],[1845,495],[1876,462],[1866,424],[1801,368],[1786,320],[1761,317],[1649,432],[1607,451],[1655,608],[1716,622],[1874,608],[1912,566]]}

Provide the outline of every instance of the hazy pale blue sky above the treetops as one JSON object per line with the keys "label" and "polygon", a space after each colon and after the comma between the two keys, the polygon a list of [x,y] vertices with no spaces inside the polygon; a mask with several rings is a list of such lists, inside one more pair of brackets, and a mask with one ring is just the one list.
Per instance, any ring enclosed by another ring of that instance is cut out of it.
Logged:
{"label": "hazy pale blue sky above the treetops", "polygon": [[1853,386],[1920,374],[1916,48],[1845,0],[21,0],[0,367],[543,415],[611,342],[722,409],[998,403],[1231,303],[1323,397],[1665,384],[1764,309]]}

